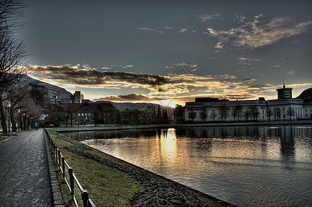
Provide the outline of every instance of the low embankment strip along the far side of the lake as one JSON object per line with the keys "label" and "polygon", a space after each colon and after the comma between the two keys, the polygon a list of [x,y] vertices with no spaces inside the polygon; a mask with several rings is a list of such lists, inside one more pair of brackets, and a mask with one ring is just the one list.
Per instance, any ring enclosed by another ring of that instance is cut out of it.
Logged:
{"label": "low embankment strip along the far side of the lake", "polygon": [[104,125],[104,126],[82,126],[68,128],[48,128],[56,132],[83,132],[93,130],[129,130],[147,128],[181,128],[181,127],[227,127],[227,126],[282,126],[282,125],[309,125],[312,120],[302,121],[241,121],[241,122],[214,122],[214,123],[194,123],[194,124],[151,124],[151,125]]}

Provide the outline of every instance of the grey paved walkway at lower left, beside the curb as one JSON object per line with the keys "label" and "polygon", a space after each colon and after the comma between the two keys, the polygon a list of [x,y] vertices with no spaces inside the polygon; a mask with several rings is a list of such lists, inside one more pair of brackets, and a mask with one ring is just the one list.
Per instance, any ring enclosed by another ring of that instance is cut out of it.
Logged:
{"label": "grey paved walkway at lower left, beside the curb", "polygon": [[43,129],[0,142],[0,206],[53,206]]}

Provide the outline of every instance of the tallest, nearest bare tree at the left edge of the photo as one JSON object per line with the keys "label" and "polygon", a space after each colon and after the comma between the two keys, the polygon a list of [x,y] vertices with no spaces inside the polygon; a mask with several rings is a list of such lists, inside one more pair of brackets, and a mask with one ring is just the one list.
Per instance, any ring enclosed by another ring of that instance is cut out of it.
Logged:
{"label": "tallest, nearest bare tree at the left edge of the photo", "polygon": [[17,20],[21,17],[21,8],[26,7],[21,0],[0,1],[0,116],[3,133],[7,133],[6,115],[3,108],[3,92],[12,86],[24,72],[26,46],[15,36],[21,28]]}

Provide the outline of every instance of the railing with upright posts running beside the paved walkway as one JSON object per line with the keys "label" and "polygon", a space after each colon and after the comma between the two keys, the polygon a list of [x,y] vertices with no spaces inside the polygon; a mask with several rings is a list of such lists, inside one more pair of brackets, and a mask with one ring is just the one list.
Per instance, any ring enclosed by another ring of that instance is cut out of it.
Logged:
{"label": "railing with upright posts running beside the paved walkway", "polygon": [[[73,168],[71,168],[67,162],[65,161],[65,158],[62,156],[61,151],[57,148],[57,146],[55,145],[52,137],[48,134],[47,130],[44,129],[46,131],[46,134],[48,135],[48,142],[50,144],[50,146],[52,147],[52,152],[53,152],[53,157],[56,158],[57,164],[59,164],[59,170],[61,170],[62,175],[63,175],[63,179],[66,182],[66,185],[71,193],[71,197],[75,203],[75,206],[78,206],[77,204],[77,200],[75,198],[74,195],[74,186],[75,184],[77,184],[80,193],[81,193],[81,197],[82,197],[82,202],[84,204],[84,207],[95,207],[95,205],[93,204],[93,201],[91,199],[89,199],[89,193],[87,190],[84,190],[84,188],[82,188],[82,186],[80,185],[80,182],[78,181],[77,177],[75,176],[75,174],[73,173]],[[65,176],[65,166],[68,169],[68,175],[69,175],[69,181],[68,179],[66,179]]]}

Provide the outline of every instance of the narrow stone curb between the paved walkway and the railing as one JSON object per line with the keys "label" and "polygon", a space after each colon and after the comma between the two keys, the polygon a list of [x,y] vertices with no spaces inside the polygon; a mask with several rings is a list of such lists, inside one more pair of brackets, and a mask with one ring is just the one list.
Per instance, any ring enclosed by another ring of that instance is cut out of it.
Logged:
{"label": "narrow stone curb between the paved walkway and the railing", "polygon": [[[44,131],[43,131],[44,132]],[[57,177],[55,174],[52,158],[51,158],[51,152],[48,147],[48,141],[46,139],[46,133],[44,132],[44,139],[46,142],[46,157],[48,161],[48,171],[50,174],[50,183],[51,183],[51,192],[53,197],[53,203],[55,207],[65,207],[64,201],[62,199],[61,191],[59,188],[59,182],[57,181]]]}

